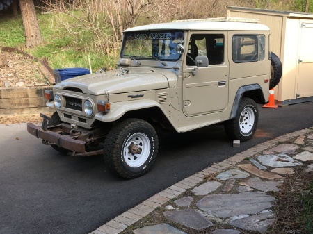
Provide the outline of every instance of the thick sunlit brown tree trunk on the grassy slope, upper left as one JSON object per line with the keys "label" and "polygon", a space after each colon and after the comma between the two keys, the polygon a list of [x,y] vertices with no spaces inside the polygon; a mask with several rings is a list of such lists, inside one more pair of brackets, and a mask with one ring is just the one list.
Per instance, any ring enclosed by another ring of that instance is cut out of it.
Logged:
{"label": "thick sunlit brown tree trunk on the grassy slope, upper left", "polygon": [[24,25],[26,47],[35,47],[42,42],[33,0],[19,0]]}

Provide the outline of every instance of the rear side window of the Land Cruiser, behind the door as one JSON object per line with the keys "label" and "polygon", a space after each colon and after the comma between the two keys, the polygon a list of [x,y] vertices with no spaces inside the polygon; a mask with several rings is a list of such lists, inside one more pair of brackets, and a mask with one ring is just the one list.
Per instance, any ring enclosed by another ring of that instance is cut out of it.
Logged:
{"label": "rear side window of the Land Cruiser, behind the door", "polygon": [[232,60],[257,62],[265,58],[265,35],[234,35],[232,37]]}

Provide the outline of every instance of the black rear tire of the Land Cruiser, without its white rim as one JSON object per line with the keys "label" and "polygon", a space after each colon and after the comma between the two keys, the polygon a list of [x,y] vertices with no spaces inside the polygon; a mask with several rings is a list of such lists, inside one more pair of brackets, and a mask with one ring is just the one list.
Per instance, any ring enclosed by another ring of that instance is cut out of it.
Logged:
{"label": "black rear tire of the Land Cruiser, without its white rim", "polygon": [[[254,132],[250,136],[245,137],[240,133],[239,117],[241,115],[243,108],[249,104],[255,106],[257,112],[255,112],[255,126],[252,128],[252,131]],[[255,103],[255,101],[250,98],[243,97],[243,99],[241,99],[241,103],[239,104],[236,117],[234,119],[230,119],[224,122],[225,133],[227,137],[229,137],[231,140],[240,140],[241,142],[246,142],[247,140],[250,140],[251,137],[254,135],[255,130],[257,128],[258,119],[259,119],[259,110],[257,109],[257,103]]]}

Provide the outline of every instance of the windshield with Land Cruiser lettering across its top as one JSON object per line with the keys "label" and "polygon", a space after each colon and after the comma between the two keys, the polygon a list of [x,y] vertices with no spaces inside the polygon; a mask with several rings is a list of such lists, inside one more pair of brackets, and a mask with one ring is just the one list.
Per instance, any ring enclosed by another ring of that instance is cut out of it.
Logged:
{"label": "windshield with Land Cruiser lettering across its top", "polygon": [[121,58],[136,60],[178,60],[175,48],[184,40],[183,31],[142,31],[125,33]]}

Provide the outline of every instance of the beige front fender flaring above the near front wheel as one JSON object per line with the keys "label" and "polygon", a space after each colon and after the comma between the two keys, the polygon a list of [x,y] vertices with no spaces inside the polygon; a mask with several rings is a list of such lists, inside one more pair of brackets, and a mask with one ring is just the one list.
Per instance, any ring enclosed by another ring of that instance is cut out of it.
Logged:
{"label": "beige front fender flaring above the near front wheel", "polygon": [[147,99],[116,102],[111,104],[111,108],[108,113],[97,113],[95,115],[95,119],[101,122],[113,122],[120,119],[120,117],[122,117],[126,112],[131,110],[140,110],[151,107],[161,108],[161,105],[157,103],[157,101]]}

